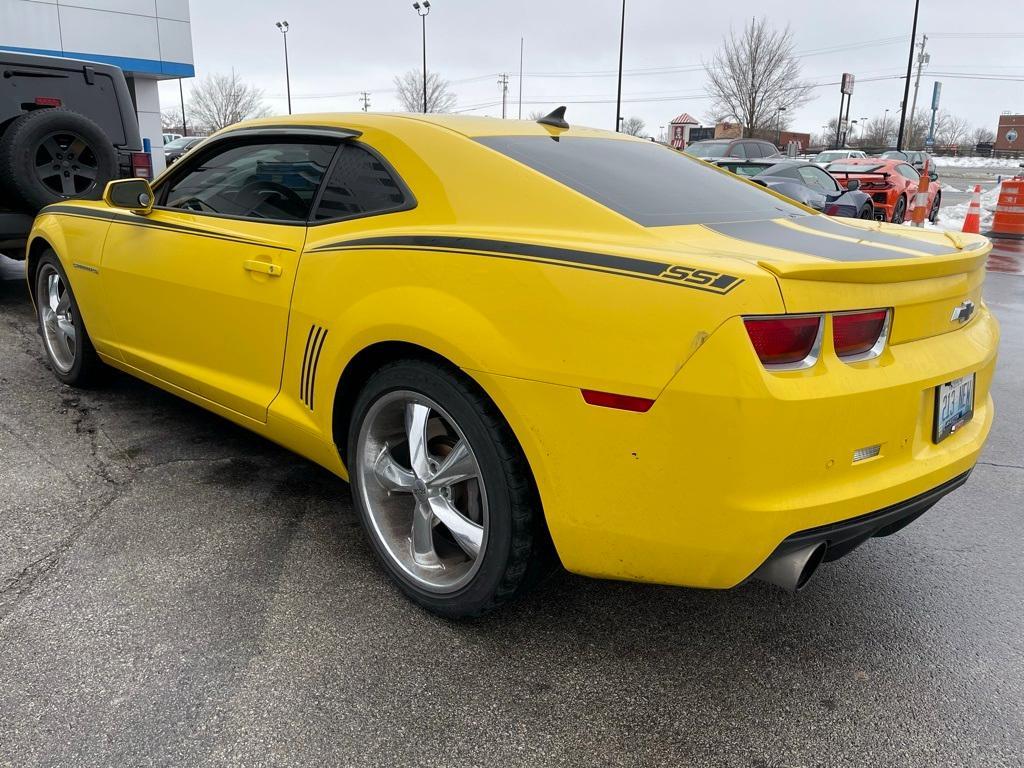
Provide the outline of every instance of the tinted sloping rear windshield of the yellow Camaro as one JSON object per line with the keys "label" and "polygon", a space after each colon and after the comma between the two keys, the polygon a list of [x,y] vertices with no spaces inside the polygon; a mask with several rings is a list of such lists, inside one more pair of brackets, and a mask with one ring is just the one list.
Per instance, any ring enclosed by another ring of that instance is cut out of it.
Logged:
{"label": "tinted sloping rear windshield of the yellow Camaro", "polygon": [[643,226],[808,215],[653,141],[564,136],[483,136],[477,141]]}

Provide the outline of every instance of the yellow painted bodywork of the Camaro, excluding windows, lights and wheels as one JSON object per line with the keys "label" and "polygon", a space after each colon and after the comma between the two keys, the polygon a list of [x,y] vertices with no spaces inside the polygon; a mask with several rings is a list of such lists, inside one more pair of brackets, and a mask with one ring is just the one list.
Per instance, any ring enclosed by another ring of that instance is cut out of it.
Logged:
{"label": "yellow painted bodywork of the Camaro, excluding windows, lights and wheels", "polygon": [[[45,209],[30,248],[61,259],[104,360],[347,477],[334,433],[346,367],[381,343],[430,350],[508,420],[565,566],[603,578],[731,587],[795,531],[899,503],[977,460],[998,341],[983,239],[767,222],[779,242],[873,254],[829,260],[731,225],[639,226],[473,140],[634,140],[602,131],[361,114],[247,124],[280,125],[358,131],[416,206],[309,226]],[[952,323],[969,299],[974,317]],[[846,362],[826,341],[805,371],[766,370],[742,322],[876,307],[894,310],[880,357]],[[974,419],[935,444],[935,387],[971,373]],[[596,408],[582,389],[654,404]],[[869,445],[879,455],[854,463]]]}

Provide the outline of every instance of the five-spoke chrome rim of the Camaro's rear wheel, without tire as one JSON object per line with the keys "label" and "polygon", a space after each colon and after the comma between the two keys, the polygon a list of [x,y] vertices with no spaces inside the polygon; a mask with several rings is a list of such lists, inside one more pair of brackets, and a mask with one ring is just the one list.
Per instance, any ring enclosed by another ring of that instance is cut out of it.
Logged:
{"label": "five-spoke chrome rim of the Camaro's rear wheel, without tire", "polygon": [[418,587],[454,592],[476,574],[487,544],[487,495],[455,420],[408,390],[381,396],[359,428],[355,472],[373,534]]}

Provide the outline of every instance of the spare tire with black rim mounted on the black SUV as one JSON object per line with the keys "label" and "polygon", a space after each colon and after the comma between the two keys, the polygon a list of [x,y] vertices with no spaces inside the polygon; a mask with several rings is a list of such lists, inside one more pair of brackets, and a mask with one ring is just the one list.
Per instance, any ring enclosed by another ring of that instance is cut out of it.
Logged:
{"label": "spare tire with black rim mounted on the black SUV", "polygon": [[98,200],[117,176],[111,140],[78,113],[36,110],[0,137],[0,189],[30,213],[61,200]]}

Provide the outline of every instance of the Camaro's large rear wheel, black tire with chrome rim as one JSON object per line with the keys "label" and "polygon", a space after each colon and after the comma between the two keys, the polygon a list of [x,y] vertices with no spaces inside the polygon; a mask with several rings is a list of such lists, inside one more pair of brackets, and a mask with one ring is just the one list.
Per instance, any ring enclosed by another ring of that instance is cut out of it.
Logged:
{"label": "Camaro's large rear wheel, black tire with chrome rim", "polygon": [[543,568],[546,530],[525,457],[459,372],[415,359],[377,371],[356,398],[347,456],[374,552],[420,606],[480,615]]}

